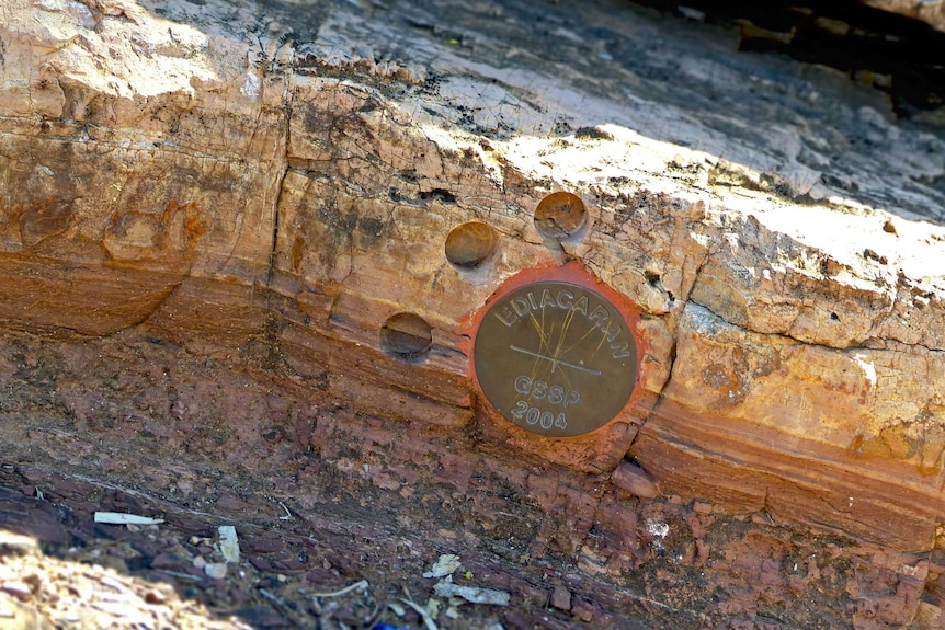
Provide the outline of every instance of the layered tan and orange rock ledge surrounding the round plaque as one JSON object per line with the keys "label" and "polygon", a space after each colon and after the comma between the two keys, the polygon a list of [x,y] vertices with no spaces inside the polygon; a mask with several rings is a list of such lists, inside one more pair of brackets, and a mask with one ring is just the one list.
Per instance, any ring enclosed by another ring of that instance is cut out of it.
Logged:
{"label": "layered tan and orange rock ledge surrounding the round plaque", "polygon": [[[499,453],[594,473],[630,457],[664,493],[931,549],[941,128],[724,31],[612,9],[8,2],[0,322],[241,353]],[[536,222],[556,191],[583,231]],[[454,264],[474,221],[494,252]],[[516,273],[569,261],[638,306],[646,353],[633,409],[562,442],[488,412],[464,327]],[[401,312],[430,327],[410,360],[382,343]]]}

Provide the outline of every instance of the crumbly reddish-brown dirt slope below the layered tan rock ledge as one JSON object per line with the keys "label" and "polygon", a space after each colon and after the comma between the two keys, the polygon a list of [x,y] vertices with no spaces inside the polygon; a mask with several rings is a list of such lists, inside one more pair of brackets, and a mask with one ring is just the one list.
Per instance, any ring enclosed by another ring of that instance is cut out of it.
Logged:
{"label": "crumbly reddish-brown dirt slope below the layered tan rock ledge", "polygon": [[[409,600],[443,629],[868,628],[937,605],[935,558],[644,501],[247,356],[143,330],[0,339],[0,627],[429,630]],[[436,595],[444,554],[509,604]]]}

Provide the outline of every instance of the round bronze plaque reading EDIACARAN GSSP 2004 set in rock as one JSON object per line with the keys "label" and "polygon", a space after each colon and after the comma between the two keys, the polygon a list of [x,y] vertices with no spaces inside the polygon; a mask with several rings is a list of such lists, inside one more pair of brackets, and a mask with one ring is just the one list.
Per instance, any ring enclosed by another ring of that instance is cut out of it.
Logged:
{"label": "round bronze plaque reading EDIACARAN GSSP 2004 set in rock", "polygon": [[476,332],[474,362],[503,417],[550,437],[607,424],[637,381],[624,316],[601,294],[567,282],[536,282],[497,299]]}

